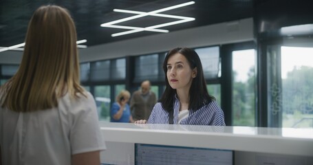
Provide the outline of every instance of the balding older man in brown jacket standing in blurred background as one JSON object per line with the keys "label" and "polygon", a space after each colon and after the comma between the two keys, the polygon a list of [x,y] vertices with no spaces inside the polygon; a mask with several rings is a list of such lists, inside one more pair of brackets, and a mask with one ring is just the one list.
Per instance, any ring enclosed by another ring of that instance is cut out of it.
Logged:
{"label": "balding older man in brown jacket standing in blurred background", "polygon": [[141,88],[133,93],[131,98],[131,114],[133,120],[148,120],[151,111],[157,102],[156,96],[151,89],[149,80],[144,80],[141,83]]}

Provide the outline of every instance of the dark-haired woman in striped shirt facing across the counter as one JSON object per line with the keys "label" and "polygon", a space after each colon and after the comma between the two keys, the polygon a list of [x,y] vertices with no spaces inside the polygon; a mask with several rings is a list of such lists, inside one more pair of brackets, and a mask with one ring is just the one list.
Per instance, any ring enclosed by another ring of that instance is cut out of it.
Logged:
{"label": "dark-haired woman in striped shirt facing across the counter", "polygon": [[198,54],[177,47],[166,54],[163,63],[166,89],[143,124],[191,124],[225,126],[224,112],[208,94]]}

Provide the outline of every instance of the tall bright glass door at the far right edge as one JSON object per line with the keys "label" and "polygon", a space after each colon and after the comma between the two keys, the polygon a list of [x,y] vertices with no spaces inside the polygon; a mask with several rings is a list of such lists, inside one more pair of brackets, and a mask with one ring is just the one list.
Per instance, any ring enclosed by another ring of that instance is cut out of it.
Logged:
{"label": "tall bright glass door at the far right edge", "polygon": [[267,47],[268,125],[313,128],[313,45]]}

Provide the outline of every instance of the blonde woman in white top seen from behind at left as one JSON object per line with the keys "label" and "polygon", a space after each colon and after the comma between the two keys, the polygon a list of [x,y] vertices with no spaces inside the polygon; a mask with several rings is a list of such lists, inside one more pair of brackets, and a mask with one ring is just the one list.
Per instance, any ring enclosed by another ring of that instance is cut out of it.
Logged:
{"label": "blonde woman in white top seen from behind at left", "polygon": [[79,84],[74,21],[56,5],[30,20],[19,70],[0,89],[3,164],[100,164],[94,98]]}

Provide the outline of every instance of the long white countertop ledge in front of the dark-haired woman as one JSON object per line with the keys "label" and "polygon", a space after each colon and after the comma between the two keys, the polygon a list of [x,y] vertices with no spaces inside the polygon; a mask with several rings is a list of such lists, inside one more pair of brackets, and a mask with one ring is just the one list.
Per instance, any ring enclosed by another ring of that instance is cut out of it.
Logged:
{"label": "long white countertop ledge in front of the dark-haired woman", "polygon": [[313,156],[313,129],[100,122],[108,142]]}

